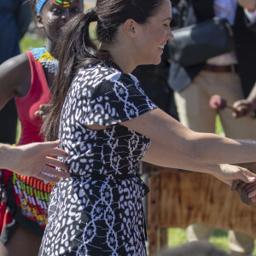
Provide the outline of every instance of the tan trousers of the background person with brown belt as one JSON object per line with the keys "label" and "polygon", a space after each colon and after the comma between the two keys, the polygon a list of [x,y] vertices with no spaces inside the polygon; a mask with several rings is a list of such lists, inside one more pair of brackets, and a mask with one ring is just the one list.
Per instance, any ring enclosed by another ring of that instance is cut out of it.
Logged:
{"label": "tan trousers of the background person with brown belt", "polygon": [[[209,107],[209,99],[218,94],[232,106],[242,99],[241,81],[236,73],[212,73],[201,71],[184,90],[175,92],[177,112],[183,125],[200,132],[215,132],[216,110]],[[234,119],[232,111],[219,111],[226,137],[256,139],[256,119],[243,117]],[[189,241],[208,240],[212,229],[202,224],[192,224],[188,228]],[[238,232],[229,232],[232,255],[250,255],[253,252],[253,238]]]}

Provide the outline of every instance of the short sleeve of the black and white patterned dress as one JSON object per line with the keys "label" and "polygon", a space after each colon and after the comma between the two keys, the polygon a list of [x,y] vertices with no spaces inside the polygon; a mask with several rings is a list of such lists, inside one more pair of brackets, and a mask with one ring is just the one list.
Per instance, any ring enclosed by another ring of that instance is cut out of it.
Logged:
{"label": "short sleeve of the black and white patterned dress", "polygon": [[157,108],[131,74],[109,75],[91,92],[85,125],[115,125]]}

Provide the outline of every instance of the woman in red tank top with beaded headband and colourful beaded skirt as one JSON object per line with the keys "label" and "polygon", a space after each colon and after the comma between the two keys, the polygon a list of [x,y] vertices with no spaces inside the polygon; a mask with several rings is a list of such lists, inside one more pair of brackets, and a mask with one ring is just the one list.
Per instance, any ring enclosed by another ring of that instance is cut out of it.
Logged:
{"label": "woman in red tank top with beaded headband and colourful beaded skirt", "polygon": [[[51,97],[58,65],[54,57],[57,39],[67,20],[83,12],[82,0],[33,0],[31,3],[37,26],[46,33],[46,47],[26,51],[0,67],[0,108],[15,96],[21,123],[19,145],[43,141],[39,134],[42,121],[35,112]],[[47,223],[49,193],[54,183],[6,170],[2,182],[6,193],[0,205],[0,254],[35,255]]]}

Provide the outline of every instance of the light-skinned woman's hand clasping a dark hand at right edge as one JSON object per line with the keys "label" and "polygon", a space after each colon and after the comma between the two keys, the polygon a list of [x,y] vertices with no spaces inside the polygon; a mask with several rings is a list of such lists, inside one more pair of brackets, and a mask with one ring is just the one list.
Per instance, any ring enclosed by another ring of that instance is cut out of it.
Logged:
{"label": "light-skinned woman's hand clasping a dark hand at right edge", "polygon": [[241,180],[244,183],[256,182],[256,174],[250,172],[245,167],[227,164],[222,164],[218,166],[218,172],[214,172],[214,176],[220,179],[222,182],[229,184],[230,186],[234,180]]}

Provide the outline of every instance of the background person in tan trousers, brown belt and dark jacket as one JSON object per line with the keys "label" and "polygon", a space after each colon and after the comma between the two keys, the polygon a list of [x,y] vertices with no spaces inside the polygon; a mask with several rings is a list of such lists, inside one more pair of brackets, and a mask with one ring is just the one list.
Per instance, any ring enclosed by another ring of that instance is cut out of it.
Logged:
{"label": "background person in tan trousers, brown belt and dark jacket", "polygon": [[[247,97],[256,81],[256,1],[181,0],[173,5],[179,27],[218,16],[229,20],[233,29],[234,51],[189,67],[172,61],[170,68],[168,83],[175,90],[180,121],[194,131],[214,132],[218,111],[209,107],[211,96],[223,96],[232,105]],[[255,140],[255,119],[234,119],[229,108],[219,111],[219,116],[226,137]],[[189,241],[208,240],[211,234],[212,229],[202,224],[188,228]],[[253,252],[253,238],[249,236],[230,231],[229,241],[232,255]]]}

